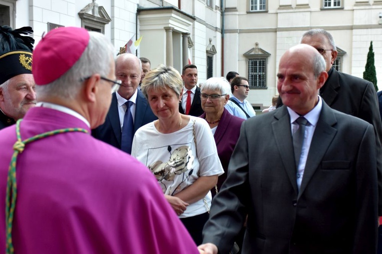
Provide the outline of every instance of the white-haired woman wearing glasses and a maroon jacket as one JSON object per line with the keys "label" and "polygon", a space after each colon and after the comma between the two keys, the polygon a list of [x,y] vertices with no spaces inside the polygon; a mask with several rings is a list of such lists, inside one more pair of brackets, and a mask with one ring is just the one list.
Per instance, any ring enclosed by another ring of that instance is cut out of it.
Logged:
{"label": "white-haired woman wearing glasses and a maroon jacket", "polygon": [[[204,111],[200,118],[206,120],[214,134],[218,156],[224,169],[224,174],[218,178],[217,190],[220,190],[227,178],[228,163],[244,121],[244,119],[232,116],[224,108],[230,98],[230,91],[230,84],[225,78],[209,78],[203,83],[200,94]],[[215,188],[211,190],[213,196],[217,190]]]}

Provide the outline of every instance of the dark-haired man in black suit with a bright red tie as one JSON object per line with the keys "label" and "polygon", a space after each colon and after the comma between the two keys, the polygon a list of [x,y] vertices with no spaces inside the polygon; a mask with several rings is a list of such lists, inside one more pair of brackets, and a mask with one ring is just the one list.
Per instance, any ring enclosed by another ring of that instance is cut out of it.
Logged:
{"label": "dark-haired man in black suit with a bright red tie", "polygon": [[198,69],[196,65],[185,65],[182,70],[182,79],[184,88],[182,100],[179,102],[179,112],[180,114],[199,117],[204,111],[200,100],[200,88],[197,86]]}

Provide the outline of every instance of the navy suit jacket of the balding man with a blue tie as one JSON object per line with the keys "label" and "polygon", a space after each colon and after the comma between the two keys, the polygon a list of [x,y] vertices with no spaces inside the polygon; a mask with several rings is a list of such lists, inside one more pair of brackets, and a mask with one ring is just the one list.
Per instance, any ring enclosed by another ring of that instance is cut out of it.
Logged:
{"label": "navy suit jacket of the balding man with a blue tie", "polygon": [[[135,131],[145,124],[151,123],[158,118],[152,113],[150,105],[142,92],[138,89],[135,105],[134,134]],[[112,95],[111,105],[107,113],[105,123],[91,131],[92,136],[121,149],[122,130],[119,122],[118,102],[115,93]]]}

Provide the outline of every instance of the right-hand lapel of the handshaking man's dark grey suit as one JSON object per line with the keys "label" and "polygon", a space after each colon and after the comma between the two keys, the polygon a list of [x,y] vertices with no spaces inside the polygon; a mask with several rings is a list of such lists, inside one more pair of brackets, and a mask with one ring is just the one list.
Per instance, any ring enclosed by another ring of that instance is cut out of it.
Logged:
{"label": "right-hand lapel of the handshaking man's dark grey suit", "polygon": [[309,148],[307,162],[305,164],[304,176],[300,186],[299,199],[306,189],[309,181],[319,167],[323,157],[328,150],[333,138],[337,133],[337,129],[332,127],[337,123],[336,117],[330,107],[323,102],[319,121],[313,134],[311,146]]}

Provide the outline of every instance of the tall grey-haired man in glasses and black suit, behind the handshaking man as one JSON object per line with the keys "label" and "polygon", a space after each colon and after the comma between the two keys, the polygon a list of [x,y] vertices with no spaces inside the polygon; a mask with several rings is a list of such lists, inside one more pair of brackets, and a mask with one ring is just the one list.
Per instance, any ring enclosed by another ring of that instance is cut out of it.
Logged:
{"label": "tall grey-haired man in glasses and black suit, behind the handshaking man", "polygon": [[[324,57],[328,79],[320,89],[320,95],[332,109],[358,117],[374,126],[377,142],[378,179],[379,179],[379,215],[382,216],[382,123],[378,107],[377,93],[373,83],[338,72],[333,63],[337,58],[337,48],[333,36],[323,29],[311,29],[305,32],[301,43],[316,48]],[[278,107],[282,105],[281,100]]]}

